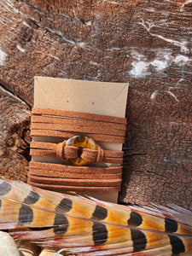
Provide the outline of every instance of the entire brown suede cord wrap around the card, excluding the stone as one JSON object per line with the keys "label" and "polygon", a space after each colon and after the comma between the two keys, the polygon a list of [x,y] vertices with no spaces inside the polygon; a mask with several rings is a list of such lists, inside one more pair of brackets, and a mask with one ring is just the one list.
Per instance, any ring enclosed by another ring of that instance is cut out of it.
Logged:
{"label": "entire brown suede cord wrap around the card, excluding the stone", "polygon": [[[92,137],[96,141],[124,143],[126,119],[95,113],[32,108],[31,135],[36,137],[69,138],[75,135]],[[32,156],[76,158],[79,148],[62,143],[32,142]],[[55,191],[119,191],[123,163],[122,151],[82,148],[81,158],[90,162],[106,162],[115,166],[67,166],[31,161],[28,183]],[[49,158],[46,159],[46,161]]]}

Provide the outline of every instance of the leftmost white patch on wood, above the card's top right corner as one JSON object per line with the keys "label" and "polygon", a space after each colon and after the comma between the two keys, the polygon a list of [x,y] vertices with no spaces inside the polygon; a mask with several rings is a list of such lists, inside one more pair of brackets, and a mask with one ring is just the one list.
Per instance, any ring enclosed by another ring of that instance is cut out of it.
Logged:
{"label": "leftmost white patch on wood, above the card's top right corner", "polygon": [[148,72],[148,62],[146,61],[133,61],[131,63],[132,69],[130,71],[131,77],[133,78],[143,78],[150,74]]}

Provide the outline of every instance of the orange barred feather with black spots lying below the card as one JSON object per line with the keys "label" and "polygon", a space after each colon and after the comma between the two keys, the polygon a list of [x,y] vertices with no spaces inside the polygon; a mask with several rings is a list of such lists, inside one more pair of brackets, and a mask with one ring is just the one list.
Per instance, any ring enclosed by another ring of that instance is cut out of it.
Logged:
{"label": "orange barred feather with black spots lying below the card", "polygon": [[0,179],[0,229],[69,254],[192,255],[191,216],[182,207],[125,207]]}

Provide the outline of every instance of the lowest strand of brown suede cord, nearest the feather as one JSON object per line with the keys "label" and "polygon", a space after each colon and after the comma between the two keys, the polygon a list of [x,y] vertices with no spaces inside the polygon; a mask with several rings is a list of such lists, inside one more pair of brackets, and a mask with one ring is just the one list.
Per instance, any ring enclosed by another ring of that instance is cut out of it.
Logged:
{"label": "lowest strand of brown suede cord, nearest the feather", "polygon": [[75,191],[75,192],[97,192],[97,193],[103,193],[103,192],[118,192],[120,190],[119,186],[108,186],[108,187],[80,187],[80,186],[65,186],[65,185],[55,185],[55,184],[44,184],[44,183],[34,183],[30,180],[28,180],[28,183],[32,186],[41,188],[41,189],[49,189],[56,192],[63,192],[63,191]]}

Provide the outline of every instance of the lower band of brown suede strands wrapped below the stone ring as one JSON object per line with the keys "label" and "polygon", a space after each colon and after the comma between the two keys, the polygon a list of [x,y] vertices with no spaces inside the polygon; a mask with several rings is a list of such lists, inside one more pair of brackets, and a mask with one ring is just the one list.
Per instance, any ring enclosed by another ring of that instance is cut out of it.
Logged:
{"label": "lower band of brown suede strands wrapped below the stone ring", "polygon": [[121,166],[65,166],[31,161],[29,169],[28,183],[55,191],[119,191],[121,183]]}

